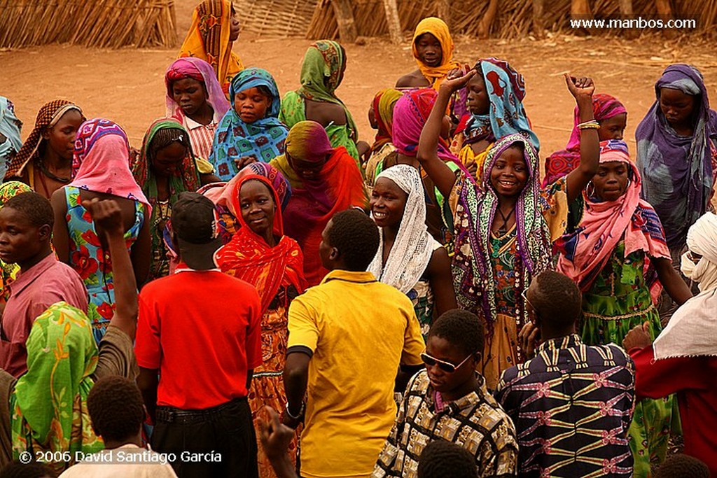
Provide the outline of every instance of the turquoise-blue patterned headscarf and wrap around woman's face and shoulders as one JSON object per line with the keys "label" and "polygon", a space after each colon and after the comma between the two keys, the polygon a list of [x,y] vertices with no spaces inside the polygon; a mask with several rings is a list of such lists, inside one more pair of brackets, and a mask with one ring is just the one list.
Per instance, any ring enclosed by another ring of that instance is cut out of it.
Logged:
{"label": "turquoise-blue patterned headscarf and wrap around woman's face and shoulders", "polygon": [[[272,102],[266,116],[253,123],[244,123],[234,110],[234,96],[253,87],[267,87]],[[214,133],[214,145],[209,162],[214,164],[217,176],[229,181],[239,172],[235,159],[254,156],[257,161],[268,163],[284,154],[284,141],[288,128],[279,120],[281,99],[279,88],[272,75],[261,68],[247,68],[237,73],[229,87],[232,107],[224,115]]]}

